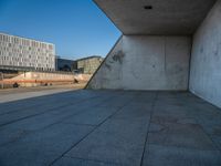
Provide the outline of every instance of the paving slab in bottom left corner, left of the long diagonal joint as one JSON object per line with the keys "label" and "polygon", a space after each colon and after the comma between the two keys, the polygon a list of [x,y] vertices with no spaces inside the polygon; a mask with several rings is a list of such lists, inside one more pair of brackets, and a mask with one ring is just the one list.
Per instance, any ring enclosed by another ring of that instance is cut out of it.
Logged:
{"label": "paving slab in bottom left corner, left of the long diagonal joint", "polygon": [[92,126],[56,124],[0,147],[1,165],[49,165],[76,144]]}

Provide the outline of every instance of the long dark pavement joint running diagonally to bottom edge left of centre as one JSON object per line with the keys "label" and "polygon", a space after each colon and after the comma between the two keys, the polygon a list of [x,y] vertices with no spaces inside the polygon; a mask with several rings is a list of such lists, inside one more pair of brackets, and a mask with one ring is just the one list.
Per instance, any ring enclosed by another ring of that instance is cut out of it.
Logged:
{"label": "long dark pavement joint running diagonally to bottom edge left of centre", "polygon": [[93,132],[95,132],[99,126],[102,126],[105,122],[107,122],[107,120],[112,118],[114,115],[116,115],[118,112],[120,112],[123,110],[123,107],[125,107],[130,101],[133,101],[135,98],[135,96],[130,100],[128,100],[127,102],[125,102],[125,104],[120,107],[117,108],[116,112],[114,112],[112,115],[107,116],[103,122],[101,122],[96,127],[94,127],[91,132],[88,132],[85,136],[83,136],[78,142],[76,142],[74,145],[72,145],[67,151],[65,151],[61,156],[59,156],[57,158],[55,158],[49,166],[52,166],[53,164],[55,164],[59,159],[61,159],[65,154],[67,154],[72,148],[74,148],[76,145],[78,145],[81,142],[83,142],[88,135],[91,135]]}

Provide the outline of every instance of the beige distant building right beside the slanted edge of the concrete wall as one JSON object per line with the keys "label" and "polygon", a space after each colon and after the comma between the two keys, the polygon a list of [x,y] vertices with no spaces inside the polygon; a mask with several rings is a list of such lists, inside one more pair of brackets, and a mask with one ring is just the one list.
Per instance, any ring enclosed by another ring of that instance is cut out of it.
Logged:
{"label": "beige distant building right beside the slanted edge of the concrete wall", "polygon": [[104,59],[102,56],[88,56],[76,60],[77,71],[84,74],[94,74]]}

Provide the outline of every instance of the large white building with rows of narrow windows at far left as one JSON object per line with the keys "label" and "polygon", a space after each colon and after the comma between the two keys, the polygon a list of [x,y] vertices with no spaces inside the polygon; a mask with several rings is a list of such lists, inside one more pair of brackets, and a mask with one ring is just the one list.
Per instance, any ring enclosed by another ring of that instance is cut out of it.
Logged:
{"label": "large white building with rows of narrow windows at far left", "polygon": [[0,33],[0,66],[54,71],[55,45]]}

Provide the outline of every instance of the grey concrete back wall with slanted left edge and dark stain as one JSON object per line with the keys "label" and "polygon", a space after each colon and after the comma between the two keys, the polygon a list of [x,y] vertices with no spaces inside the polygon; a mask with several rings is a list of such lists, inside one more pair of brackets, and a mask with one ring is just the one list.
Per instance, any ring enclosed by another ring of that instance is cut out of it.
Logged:
{"label": "grey concrete back wall with slanted left edge and dark stain", "polygon": [[190,37],[124,35],[90,89],[187,90]]}

